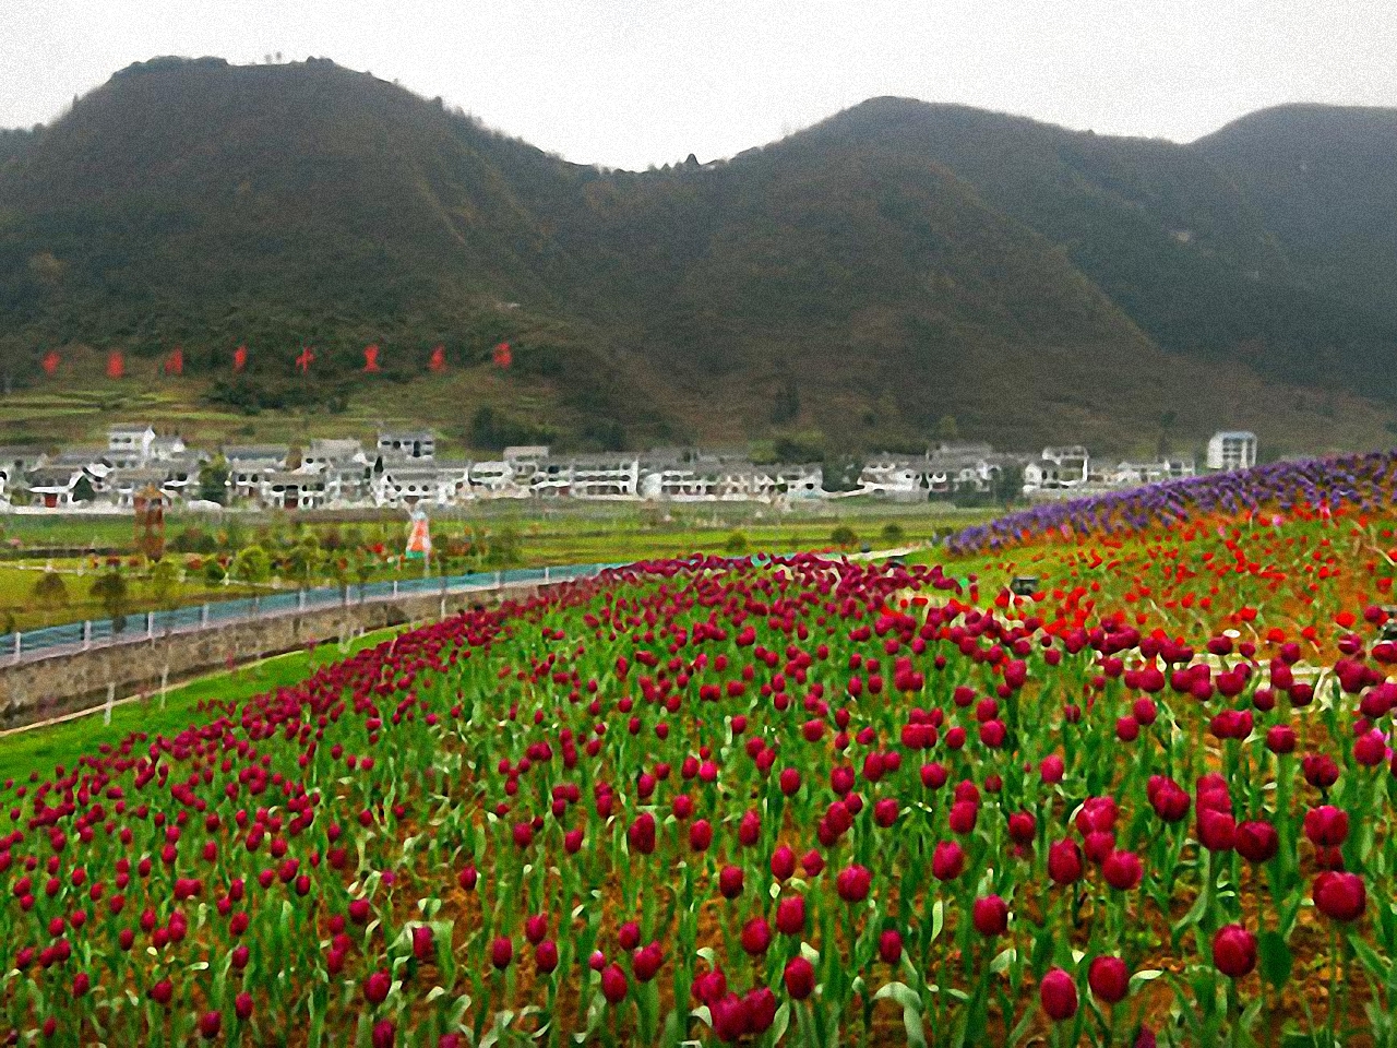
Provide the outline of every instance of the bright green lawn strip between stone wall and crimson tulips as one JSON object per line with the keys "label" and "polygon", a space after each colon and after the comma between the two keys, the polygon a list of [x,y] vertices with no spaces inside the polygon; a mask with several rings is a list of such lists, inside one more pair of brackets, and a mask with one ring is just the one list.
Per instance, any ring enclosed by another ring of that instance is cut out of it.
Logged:
{"label": "bright green lawn strip between stone wall and crimson tulips", "polygon": [[32,771],[47,776],[57,764],[73,767],[84,753],[95,753],[102,743],[117,743],[131,732],[142,731],[152,736],[176,735],[189,725],[207,720],[196,710],[201,701],[229,699],[242,701],[261,692],[295,685],[316,668],[379,644],[397,632],[397,629],[377,630],[366,633],[345,648],[334,643],[321,644],[314,653],[291,651],[232,672],[197,678],[170,687],[163,704],[159,694],[155,694],[115,707],[110,724],[103,724],[103,714],[98,711],[61,724],[3,735],[0,781],[28,778]]}

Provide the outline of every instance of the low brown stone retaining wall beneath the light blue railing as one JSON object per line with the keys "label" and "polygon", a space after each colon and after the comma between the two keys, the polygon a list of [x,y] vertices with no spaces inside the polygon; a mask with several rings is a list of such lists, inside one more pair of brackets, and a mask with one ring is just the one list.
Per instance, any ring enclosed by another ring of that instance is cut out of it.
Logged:
{"label": "low brown stone retaining wall beneath the light blue railing", "polygon": [[[536,590],[536,585],[506,585],[503,590],[447,594],[444,609],[451,615],[476,604],[527,597]],[[175,683],[224,669],[229,664],[296,651],[310,643],[436,619],[441,612],[440,594],[405,595],[394,601],[219,623],[165,637],[141,636],[120,644],[34,661],[0,661],[0,729],[20,728],[98,706],[106,701],[112,686],[116,689],[116,699],[151,693],[159,689],[162,675],[169,683]]]}

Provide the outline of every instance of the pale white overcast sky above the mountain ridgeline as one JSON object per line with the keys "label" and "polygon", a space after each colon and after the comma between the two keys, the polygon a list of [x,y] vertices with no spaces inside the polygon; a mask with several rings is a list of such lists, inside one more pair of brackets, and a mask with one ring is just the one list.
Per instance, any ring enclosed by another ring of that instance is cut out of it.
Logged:
{"label": "pale white overcast sky above the mountain ridgeline", "polygon": [[622,168],[876,95],[1176,141],[1280,102],[1397,106],[1393,0],[0,0],[0,127],[156,54],[275,52]]}

